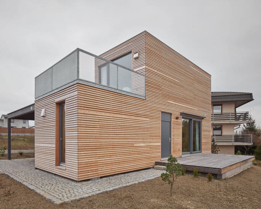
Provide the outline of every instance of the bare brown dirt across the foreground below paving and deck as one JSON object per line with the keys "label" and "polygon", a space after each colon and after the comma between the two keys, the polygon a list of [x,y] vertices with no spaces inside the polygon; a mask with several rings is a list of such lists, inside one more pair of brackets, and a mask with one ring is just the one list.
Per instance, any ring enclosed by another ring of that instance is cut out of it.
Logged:
{"label": "bare brown dirt across the foreground below paving and deck", "polygon": [[174,185],[160,178],[133,184],[62,205],[54,205],[5,174],[0,174],[1,208],[260,208],[261,167],[253,166],[229,179],[184,175]]}

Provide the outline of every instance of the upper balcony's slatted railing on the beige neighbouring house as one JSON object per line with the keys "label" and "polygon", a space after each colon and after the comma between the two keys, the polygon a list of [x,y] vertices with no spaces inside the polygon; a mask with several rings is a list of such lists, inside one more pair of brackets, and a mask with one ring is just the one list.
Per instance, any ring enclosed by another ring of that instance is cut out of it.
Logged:
{"label": "upper balcony's slatted railing on the beige neighbouring house", "polygon": [[212,113],[211,122],[248,122],[249,112]]}

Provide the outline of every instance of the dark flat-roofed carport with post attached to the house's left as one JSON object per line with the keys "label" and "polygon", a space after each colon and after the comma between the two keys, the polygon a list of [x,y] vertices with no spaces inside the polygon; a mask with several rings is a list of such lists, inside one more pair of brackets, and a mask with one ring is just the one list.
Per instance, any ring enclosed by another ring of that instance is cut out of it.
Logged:
{"label": "dark flat-roofed carport with post attached to the house's left", "polygon": [[7,157],[11,159],[11,119],[34,121],[34,104],[7,114]]}

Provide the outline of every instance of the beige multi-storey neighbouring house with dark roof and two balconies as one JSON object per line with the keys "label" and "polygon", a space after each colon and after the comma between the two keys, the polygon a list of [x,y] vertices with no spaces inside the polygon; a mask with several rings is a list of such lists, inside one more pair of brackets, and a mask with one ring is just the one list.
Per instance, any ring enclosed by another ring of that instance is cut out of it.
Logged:
{"label": "beige multi-storey neighbouring house with dark roof and two balconies", "polygon": [[249,119],[249,112],[237,112],[236,108],[252,100],[252,93],[211,92],[211,138],[219,154],[234,154],[235,145],[252,145],[252,134],[235,134],[235,129]]}

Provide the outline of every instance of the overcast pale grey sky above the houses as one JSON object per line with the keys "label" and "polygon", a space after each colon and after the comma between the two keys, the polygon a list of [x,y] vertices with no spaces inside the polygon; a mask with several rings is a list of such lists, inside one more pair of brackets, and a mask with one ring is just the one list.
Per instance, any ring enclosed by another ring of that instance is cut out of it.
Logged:
{"label": "overcast pale grey sky above the houses", "polygon": [[261,125],[261,1],[0,1],[0,114],[34,103],[34,77],[77,47],[96,55],[147,30],[212,75],[252,92]]}

